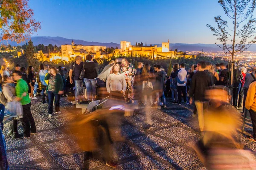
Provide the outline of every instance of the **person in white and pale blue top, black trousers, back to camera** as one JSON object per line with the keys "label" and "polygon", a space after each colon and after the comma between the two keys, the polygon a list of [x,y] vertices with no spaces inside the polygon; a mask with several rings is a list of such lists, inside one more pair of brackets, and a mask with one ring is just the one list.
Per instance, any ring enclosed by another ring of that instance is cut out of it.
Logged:
{"label": "person in white and pale blue top, black trousers, back to camera", "polygon": [[[177,77],[179,78],[179,80],[181,82],[187,82],[186,76],[187,76],[187,71],[185,70],[185,64],[181,63],[180,64],[180,71],[178,72]],[[187,103],[186,84],[185,83],[180,84],[179,82],[177,82],[177,91],[178,91],[179,104],[181,104],[181,93],[182,93],[184,103],[185,103],[185,105],[188,105],[189,103]]]}

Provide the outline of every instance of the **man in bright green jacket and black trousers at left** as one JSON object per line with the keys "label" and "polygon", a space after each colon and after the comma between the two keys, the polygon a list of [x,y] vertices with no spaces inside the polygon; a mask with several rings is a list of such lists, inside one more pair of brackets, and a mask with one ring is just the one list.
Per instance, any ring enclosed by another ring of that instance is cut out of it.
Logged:
{"label": "man in bright green jacket and black trousers at left", "polygon": [[17,81],[15,87],[16,96],[20,98],[23,108],[23,119],[20,119],[23,126],[23,136],[21,138],[26,139],[30,137],[30,134],[36,134],[35,120],[30,110],[31,102],[28,94],[29,86],[27,82],[22,79],[22,73],[20,71],[14,71],[12,75],[13,79]]}

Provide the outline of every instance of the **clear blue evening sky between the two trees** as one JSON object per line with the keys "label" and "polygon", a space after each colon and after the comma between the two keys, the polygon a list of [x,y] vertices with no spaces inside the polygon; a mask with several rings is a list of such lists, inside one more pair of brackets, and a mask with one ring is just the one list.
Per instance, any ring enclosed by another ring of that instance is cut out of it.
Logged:
{"label": "clear blue evening sky between the two trees", "polygon": [[30,0],[34,35],[147,44],[216,42],[206,24],[224,15],[218,0]]}

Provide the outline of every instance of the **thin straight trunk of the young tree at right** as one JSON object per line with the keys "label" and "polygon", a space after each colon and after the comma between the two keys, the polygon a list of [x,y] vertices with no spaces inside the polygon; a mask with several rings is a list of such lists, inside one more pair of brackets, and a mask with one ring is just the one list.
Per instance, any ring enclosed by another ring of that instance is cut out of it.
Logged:
{"label": "thin straight trunk of the young tree at right", "polygon": [[230,76],[230,95],[231,97],[231,103],[233,102],[233,79],[234,79],[234,53],[235,53],[235,43],[236,43],[236,0],[234,4],[234,9],[235,9],[235,21],[234,21],[234,36],[233,36],[233,44],[232,44],[232,58],[231,58],[231,76]]}

